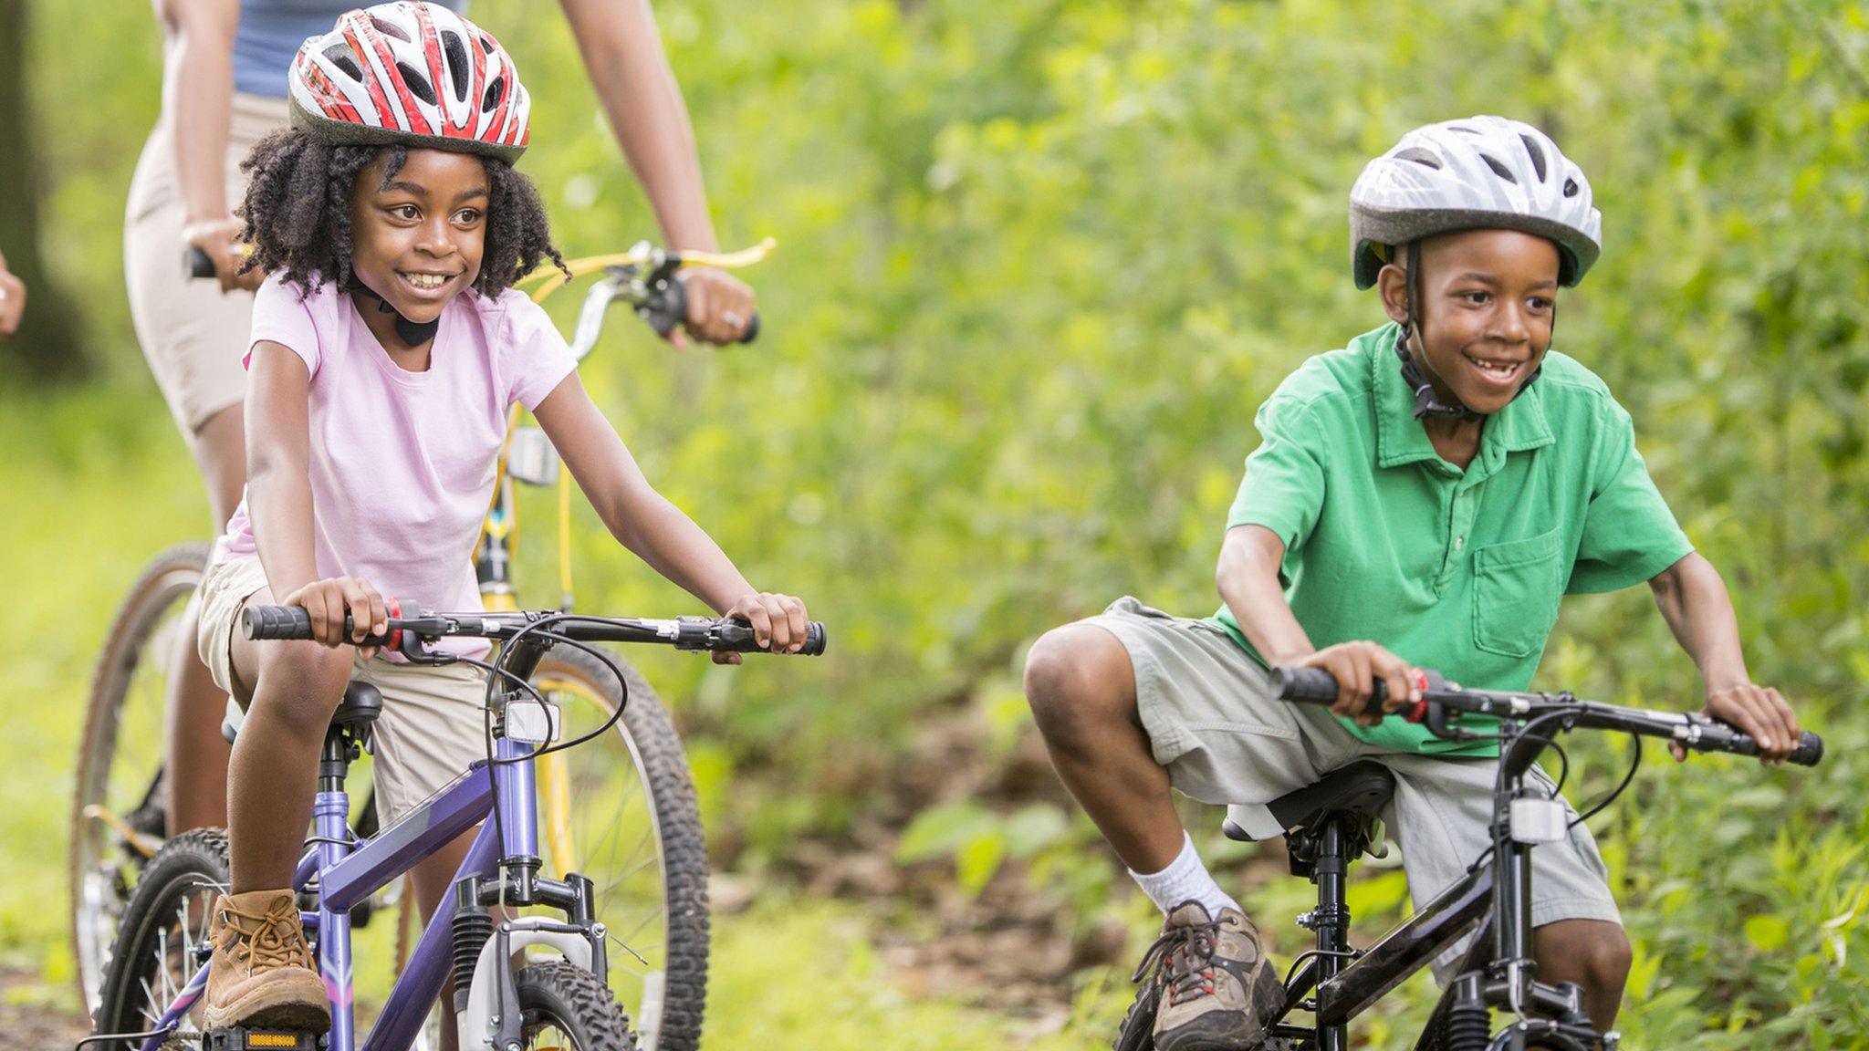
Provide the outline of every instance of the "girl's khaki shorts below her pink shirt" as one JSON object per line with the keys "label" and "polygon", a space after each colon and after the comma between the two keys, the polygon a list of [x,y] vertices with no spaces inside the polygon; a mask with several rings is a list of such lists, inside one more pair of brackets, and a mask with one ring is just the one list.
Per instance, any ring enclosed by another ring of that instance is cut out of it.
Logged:
{"label": "girl's khaki shorts below her pink shirt", "polygon": [[[271,602],[265,570],[252,555],[219,557],[196,597],[202,621],[196,645],[215,684],[234,692],[234,632],[249,604]],[[486,677],[478,668],[402,664],[387,656],[357,660],[351,679],[383,692],[376,720],[376,797],[383,823],[407,813],[447,787],[477,759],[486,759]],[[305,770],[310,784],[312,770]]]}

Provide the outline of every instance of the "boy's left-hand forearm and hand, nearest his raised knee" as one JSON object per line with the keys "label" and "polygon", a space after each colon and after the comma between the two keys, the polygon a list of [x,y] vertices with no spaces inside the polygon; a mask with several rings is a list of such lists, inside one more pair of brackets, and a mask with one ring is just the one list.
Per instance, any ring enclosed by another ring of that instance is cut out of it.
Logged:
{"label": "boy's left-hand forearm and hand, nearest his raised knee", "polygon": [[1220,598],[1239,621],[1241,634],[1269,666],[1297,664],[1323,668],[1336,677],[1336,703],[1331,711],[1363,726],[1376,726],[1379,716],[1363,714],[1376,679],[1387,686],[1383,711],[1396,711],[1420,699],[1413,669],[1405,660],[1374,641],[1346,641],[1316,649],[1303,625],[1291,615],[1284,589],[1278,585],[1278,565],[1284,561],[1284,540],[1263,526],[1235,526],[1226,531],[1220,546],[1220,567],[1215,583]]}

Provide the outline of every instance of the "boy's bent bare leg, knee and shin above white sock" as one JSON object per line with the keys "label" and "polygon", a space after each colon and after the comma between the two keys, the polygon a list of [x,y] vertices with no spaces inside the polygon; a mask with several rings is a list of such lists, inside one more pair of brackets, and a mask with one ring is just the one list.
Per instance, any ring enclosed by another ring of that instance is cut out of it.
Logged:
{"label": "boy's bent bare leg, knee and shin above white sock", "polygon": [[1026,658],[1026,699],[1058,778],[1133,871],[1161,871],[1185,828],[1136,709],[1129,651],[1091,625],[1054,628]]}

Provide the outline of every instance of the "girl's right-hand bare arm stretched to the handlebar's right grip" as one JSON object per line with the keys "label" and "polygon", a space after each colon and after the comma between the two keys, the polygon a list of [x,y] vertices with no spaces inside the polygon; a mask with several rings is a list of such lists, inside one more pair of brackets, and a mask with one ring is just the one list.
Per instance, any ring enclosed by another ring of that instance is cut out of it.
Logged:
{"label": "girl's right-hand bare arm stretched to the handlebar's right grip", "polygon": [[576,372],[546,395],[533,415],[624,548],[716,613],[749,621],[761,645],[768,638],[772,649],[796,653],[804,645],[804,602],[755,591],[720,544],[649,484]]}

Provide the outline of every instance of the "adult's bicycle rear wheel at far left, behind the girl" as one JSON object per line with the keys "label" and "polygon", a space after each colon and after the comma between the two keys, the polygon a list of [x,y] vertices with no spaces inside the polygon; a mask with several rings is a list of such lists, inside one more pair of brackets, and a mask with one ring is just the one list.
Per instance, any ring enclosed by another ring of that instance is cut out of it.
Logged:
{"label": "adult's bicycle rear wheel at far left, behind the girl", "polygon": [[[163,626],[166,613],[178,608],[176,602],[185,602],[194,593],[206,570],[207,544],[200,540],[176,544],[155,555],[136,576],[110,621],[103,653],[92,673],[65,855],[71,952],[77,961],[78,1002],[86,1010],[97,1008],[110,944],[116,941],[116,924],[121,909],[127,907],[133,883],[123,879],[121,868],[107,871],[105,866],[110,864],[110,855],[123,853],[131,868],[142,868],[136,864],[140,855],[127,851],[121,836],[88,817],[86,808],[92,804],[108,806],[114,787],[110,776],[112,761],[118,757],[118,731],[136,671],[146,668],[144,655],[150,640]],[[159,701],[166,699],[166,690],[163,694],[164,698]],[[161,756],[157,756],[155,769],[144,772],[138,784],[144,785],[142,799],[131,815],[131,825],[161,836]],[[153,830],[140,827],[138,821],[148,825],[151,813]]]}

